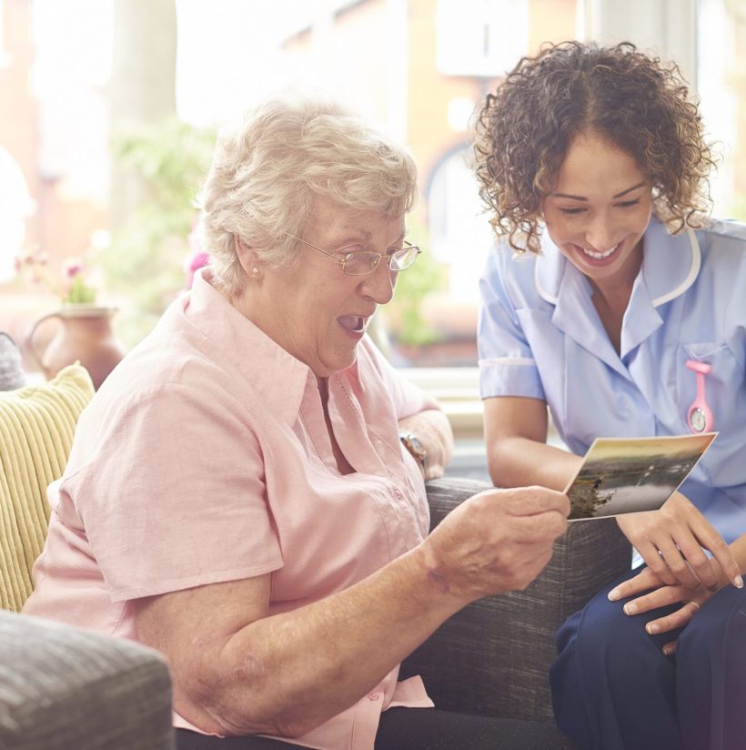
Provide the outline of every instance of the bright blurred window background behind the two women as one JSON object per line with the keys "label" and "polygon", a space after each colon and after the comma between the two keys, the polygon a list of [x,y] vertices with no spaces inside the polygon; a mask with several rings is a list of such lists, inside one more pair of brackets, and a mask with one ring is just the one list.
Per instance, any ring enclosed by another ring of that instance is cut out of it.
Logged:
{"label": "bright blurred window background behind the two women", "polygon": [[418,163],[409,237],[426,254],[376,335],[479,450],[491,239],[470,125],[520,56],[570,38],[627,39],[679,63],[718,142],[715,214],[746,218],[746,0],[0,0],[0,330],[40,370],[27,332],[66,297],[116,309],[133,346],[207,249],[193,199],[217,127],[279,86],[313,84]]}

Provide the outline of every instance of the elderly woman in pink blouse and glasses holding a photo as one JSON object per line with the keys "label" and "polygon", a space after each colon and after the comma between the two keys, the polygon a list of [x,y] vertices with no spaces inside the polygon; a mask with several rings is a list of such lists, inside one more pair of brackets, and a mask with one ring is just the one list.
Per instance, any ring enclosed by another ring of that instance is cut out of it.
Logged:
{"label": "elderly woman in pink blouse and glasses holding a photo", "polygon": [[207,177],[211,266],[79,423],[25,611],[166,654],[180,748],[512,746],[397,682],[452,613],[527,585],[569,510],[483,492],[427,536],[449,423],[366,337],[420,252],[415,190],[338,104],[259,106]]}

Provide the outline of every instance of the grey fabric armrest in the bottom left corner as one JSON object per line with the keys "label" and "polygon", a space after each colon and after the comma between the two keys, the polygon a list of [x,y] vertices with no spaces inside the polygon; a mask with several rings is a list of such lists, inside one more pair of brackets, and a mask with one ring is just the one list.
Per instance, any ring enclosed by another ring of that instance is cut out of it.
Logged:
{"label": "grey fabric armrest in the bottom left corner", "polygon": [[152,649],[0,611],[0,748],[169,750],[171,682]]}

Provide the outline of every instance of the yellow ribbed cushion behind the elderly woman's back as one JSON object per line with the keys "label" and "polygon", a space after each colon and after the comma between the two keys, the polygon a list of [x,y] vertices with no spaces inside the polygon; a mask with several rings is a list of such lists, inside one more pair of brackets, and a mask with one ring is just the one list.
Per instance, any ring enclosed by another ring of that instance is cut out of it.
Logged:
{"label": "yellow ribbed cushion behind the elderly woman's back", "polygon": [[77,419],[94,394],[79,364],[0,392],[0,607],[19,612],[49,522],[46,488],[62,476]]}

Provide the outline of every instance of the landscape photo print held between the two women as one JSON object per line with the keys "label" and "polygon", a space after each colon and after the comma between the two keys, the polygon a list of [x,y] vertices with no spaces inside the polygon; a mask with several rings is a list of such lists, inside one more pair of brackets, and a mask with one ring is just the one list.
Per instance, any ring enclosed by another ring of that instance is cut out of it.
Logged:
{"label": "landscape photo print held between the two women", "polygon": [[596,439],[565,490],[570,520],[657,510],[717,434]]}

